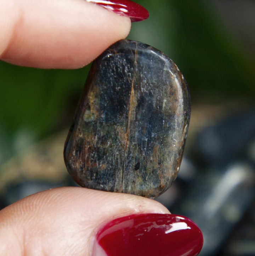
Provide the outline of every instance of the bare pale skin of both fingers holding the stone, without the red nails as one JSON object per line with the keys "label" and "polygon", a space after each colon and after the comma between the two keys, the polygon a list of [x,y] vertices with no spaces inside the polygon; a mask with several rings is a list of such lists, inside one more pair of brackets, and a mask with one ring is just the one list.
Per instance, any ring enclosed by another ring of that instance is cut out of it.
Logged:
{"label": "bare pale skin of both fingers holding the stone, without the red nails", "polygon": [[[84,0],[0,0],[0,17],[0,59],[40,68],[84,66],[130,30],[129,18]],[[89,256],[102,224],[134,213],[169,211],[134,195],[40,192],[0,211],[0,255]]]}

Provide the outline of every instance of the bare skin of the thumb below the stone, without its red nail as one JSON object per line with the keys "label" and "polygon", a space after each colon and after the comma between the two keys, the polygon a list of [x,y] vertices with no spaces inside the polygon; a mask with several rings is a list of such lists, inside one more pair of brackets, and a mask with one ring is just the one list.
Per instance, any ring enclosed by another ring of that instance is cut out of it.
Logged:
{"label": "bare skin of the thumb below the stone, without its red nail", "polygon": [[62,187],[28,196],[0,211],[0,255],[89,256],[97,230],[134,213],[169,213],[140,196]]}

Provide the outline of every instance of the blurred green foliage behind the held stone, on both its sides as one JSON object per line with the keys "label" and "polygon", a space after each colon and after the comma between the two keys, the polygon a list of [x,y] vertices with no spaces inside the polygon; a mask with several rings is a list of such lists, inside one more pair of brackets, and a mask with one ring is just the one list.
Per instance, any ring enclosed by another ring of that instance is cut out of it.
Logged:
{"label": "blurred green foliage behind the held stone, on both its sides", "polygon": [[[255,60],[209,1],[138,3],[150,17],[132,24],[129,39],[169,55],[185,76],[193,103],[255,96]],[[0,62],[0,163],[26,143],[69,126],[87,72],[88,67],[40,70]]]}

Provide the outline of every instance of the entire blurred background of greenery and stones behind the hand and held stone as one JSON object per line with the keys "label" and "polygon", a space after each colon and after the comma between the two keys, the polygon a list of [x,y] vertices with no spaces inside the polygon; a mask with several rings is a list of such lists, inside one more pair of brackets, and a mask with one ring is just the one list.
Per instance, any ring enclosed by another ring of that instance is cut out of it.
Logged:
{"label": "entire blurred background of greenery and stones behind the hand and held stone", "polygon": [[[200,255],[255,255],[255,1],[137,2],[150,17],[128,38],[170,56],[192,100],[179,177],[158,200],[199,225]],[[75,185],[63,143],[88,70],[0,62],[0,208]]]}

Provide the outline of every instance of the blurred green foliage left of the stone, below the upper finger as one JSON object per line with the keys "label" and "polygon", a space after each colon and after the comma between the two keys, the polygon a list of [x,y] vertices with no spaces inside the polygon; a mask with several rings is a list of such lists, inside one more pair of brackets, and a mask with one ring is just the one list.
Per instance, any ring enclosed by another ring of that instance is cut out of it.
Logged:
{"label": "blurred green foliage left of the stone, below the upper finger", "polygon": [[88,70],[42,70],[0,62],[0,163],[70,125]]}

